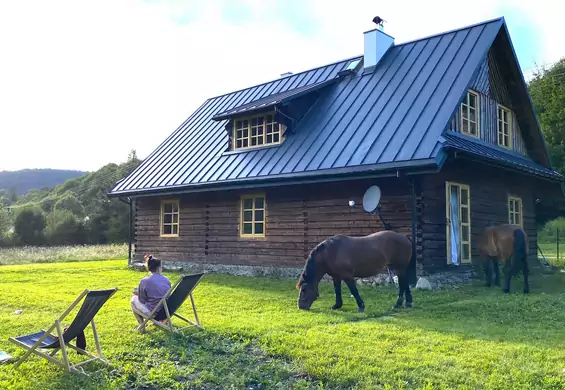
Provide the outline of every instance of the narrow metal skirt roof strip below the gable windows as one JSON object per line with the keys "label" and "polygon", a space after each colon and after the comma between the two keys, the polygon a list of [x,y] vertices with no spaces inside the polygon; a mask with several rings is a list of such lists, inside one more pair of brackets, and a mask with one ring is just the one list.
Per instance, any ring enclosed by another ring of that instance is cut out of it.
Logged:
{"label": "narrow metal skirt roof strip below the gable windows", "polygon": [[469,139],[468,137],[453,131],[446,131],[442,138],[440,138],[440,142],[443,144],[445,149],[453,149],[463,153],[470,153],[472,156],[496,162],[498,165],[507,165],[535,175],[559,181],[564,179],[563,175],[558,172],[539,165],[517,152],[501,148],[500,146],[489,142]]}

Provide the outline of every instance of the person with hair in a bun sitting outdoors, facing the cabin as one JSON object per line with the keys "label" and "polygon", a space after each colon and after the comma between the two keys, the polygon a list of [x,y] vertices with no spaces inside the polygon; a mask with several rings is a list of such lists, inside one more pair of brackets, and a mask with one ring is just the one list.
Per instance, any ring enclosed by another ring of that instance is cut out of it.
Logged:
{"label": "person with hair in a bun sitting outdoors, facing the cabin", "polygon": [[[137,291],[134,290],[134,295],[131,297],[130,303],[132,308],[142,313],[149,314],[155,309],[155,306],[157,306],[167,291],[169,291],[171,282],[166,276],[161,274],[163,271],[161,260],[157,260],[153,255],[145,255],[145,267],[151,272],[151,275],[141,279]],[[141,325],[143,318],[135,312],[133,314],[137,322]],[[140,331],[142,333],[145,332],[145,327],[140,329]]]}

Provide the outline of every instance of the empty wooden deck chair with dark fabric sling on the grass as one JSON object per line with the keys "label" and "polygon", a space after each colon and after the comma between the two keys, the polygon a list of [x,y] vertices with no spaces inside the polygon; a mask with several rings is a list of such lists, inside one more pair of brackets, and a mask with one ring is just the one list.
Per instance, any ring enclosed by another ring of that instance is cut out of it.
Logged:
{"label": "empty wooden deck chair with dark fabric sling on the grass", "polygon": [[[55,320],[55,322],[49,327],[49,329],[41,330],[37,333],[32,333],[25,336],[10,337],[9,340],[11,342],[27,350],[27,352],[16,362],[14,368],[17,368],[32,353],[44,357],[50,362],[53,362],[65,368],[69,372],[85,373],[84,369],[81,366],[95,360],[107,364],[106,361],[104,361],[104,359],[102,358],[102,349],[100,348],[100,340],[98,338],[98,332],[96,331],[94,316],[96,316],[96,314],[102,308],[102,306],[104,306],[106,301],[110,299],[110,297],[114,295],[117,290],[117,287],[110,290],[84,290],[79,295],[79,297],[69,306],[69,308]],[[65,331],[63,331],[63,325],[61,324],[61,322],[79,304],[82,298],[84,298],[84,301],[75,318],[73,319],[73,322]],[[79,335],[84,334],[83,332],[89,323],[92,326],[94,343],[96,345],[98,356],[95,356],[85,351],[84,349],[78,348],[76,345],[70,343]],[[56,334],[51,333],[54,329],[56,329]],[[62,343],[61,340],[63,340]],[[67,348],[71,348],[81,355],[86,355],[90,359],[82,361],[80,363],[72,364],[69,360],[69,353]],[[47,353],[41,350],[52,351]],[[61,351],[61,359],[55,358],[55,355],[59,351]]]}

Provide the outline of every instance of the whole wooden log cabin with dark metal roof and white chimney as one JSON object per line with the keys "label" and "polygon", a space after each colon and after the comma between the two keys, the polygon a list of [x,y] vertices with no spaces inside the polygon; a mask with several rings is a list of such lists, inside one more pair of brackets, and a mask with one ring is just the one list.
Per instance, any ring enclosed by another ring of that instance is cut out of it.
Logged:
{"label": "whole wooden log cabin with dark metal roof and white chimney", "polygon": [[[421,273],[468,267],[490,224],[562,196],[504,18],[208,99],[109,196],[133,204],[135,259],[301,268],[334,234],[409,236]],[[356,206],[350,207],[354,200]]]}

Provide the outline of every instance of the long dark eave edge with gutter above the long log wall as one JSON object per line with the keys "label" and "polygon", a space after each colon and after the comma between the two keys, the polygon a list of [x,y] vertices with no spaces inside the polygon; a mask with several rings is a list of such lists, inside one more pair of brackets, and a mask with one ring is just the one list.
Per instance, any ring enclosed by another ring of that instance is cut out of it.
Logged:
{"label": "long dark eave edge with gutter above the long log wall", "polygon": [[172,196],[180,194],[241,190],[256,187],[276,187],[280,185],[300,185],[327,183],[334,181],[350,181],[369,178],[400,177],[409,175],[420,175],[437,173],[445,159],[429,158],[415,161],[405,161],[391,164],[374,164],[359,166],[355,168],[338,168],[327,172],[301,172],[296,174],[277,175],[276,177],[258,177],[243,180],[229,180],[213,183],[198,183],[179,186],[168,186],[162,188],[148,188],[125,191],[111,191],[108,197],[131,197],[141,198],[149,196]]}

